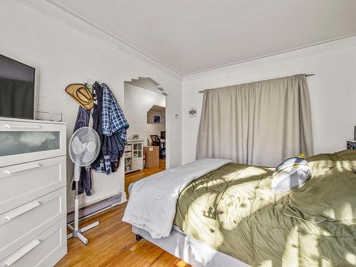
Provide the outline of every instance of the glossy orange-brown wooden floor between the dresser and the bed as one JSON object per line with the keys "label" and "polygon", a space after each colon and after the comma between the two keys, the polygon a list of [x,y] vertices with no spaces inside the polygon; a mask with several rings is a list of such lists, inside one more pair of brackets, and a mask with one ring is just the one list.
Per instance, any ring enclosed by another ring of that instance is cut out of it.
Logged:
{"label": "glossy orange-brown wooden floor between the dresser and the bed", "polygon": [[[162,166],[155,169],[156,172],[158,169],[164,169],[164,161],[162,161]],[[145,174],[134,172],[127,175],[125,178],[127,187],[129,179],[130,182],[137,181],[147,174],[153,174],[154,170],[145,169],[144,172]],[[144,239],[140,242],[136,241],[130,224],[121,221],[125,206],[126,204],[120,204],[80,221],[80,226],[94,221],[100,221],[100,224],[85,232],[85,237],[89,239],[89,244],[86,246],[79,239],[69,239],[68,254],[56,266],[190,266]]]}

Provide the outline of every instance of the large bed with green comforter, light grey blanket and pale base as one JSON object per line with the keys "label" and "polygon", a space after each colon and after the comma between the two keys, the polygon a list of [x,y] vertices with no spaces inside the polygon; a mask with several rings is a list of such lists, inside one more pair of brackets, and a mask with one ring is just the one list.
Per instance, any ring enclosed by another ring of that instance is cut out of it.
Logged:
{"label": "large bed with green comforter, light grey blanket and pale base", "polygon": [[[155,184],[157,177],[131,186],[124,219],[135,234],[194,266],[356,266],[356,152],[308,158],[311,178],[290,192],[271,189],[273,168],[192,164],[199,167],[186,172],[196,174],[187,179],[183,173],[178,190],[166,191],[162,181]],[[173,170],[175,177],[184,170],[179,168]],[[159,175],[158,180],[172,176]],[[142,208],[153,216],[135,205],[135,194],[147,199]],[[165,206],[166,195],[176,199],[173,208]],[[162,229],[169,226],[169,234],[152,232],[154,226],[145,220]]]}

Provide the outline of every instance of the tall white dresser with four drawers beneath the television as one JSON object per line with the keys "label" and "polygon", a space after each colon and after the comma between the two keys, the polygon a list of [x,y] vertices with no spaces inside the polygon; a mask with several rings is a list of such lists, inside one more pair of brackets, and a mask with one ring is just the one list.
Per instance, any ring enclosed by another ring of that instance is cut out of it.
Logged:
{"label": "tall white dresser with four drawers beneath the television", "polygon": [[0,267],[67,253],[66,124],[0,117]]}

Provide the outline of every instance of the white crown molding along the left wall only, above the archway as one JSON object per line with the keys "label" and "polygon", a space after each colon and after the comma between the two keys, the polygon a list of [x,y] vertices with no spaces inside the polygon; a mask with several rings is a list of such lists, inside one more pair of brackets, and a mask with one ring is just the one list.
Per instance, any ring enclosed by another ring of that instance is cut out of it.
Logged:
{"label": "white crown molding along the left wall only, above the archway", "polygon": [[21,4],[24,4],[31,9],[41,12],[46,16],[59,21],[70,28],[74,28],[80,33],[84,33],[91,38],[95,38],[98,41],[105,42],[112,48],[115,48],[121,52],[126,53],[129,56],[132,56],[135,59],[144,61],[160,70],[163,70],[169,75],[173,75],[175,78],[182,80],[182,73],[179,73],[174,68],[168,66],[165,63],[157,60],[147,53],[140,51],[140,49],[132,46],[130,43],[122,40],[122,38],[116,36],[114,33],[105,30],[105,28],[100,27],[98,24],[90,21],[89,19],[80,16],[80,14],[75,13],[75,11],[68,9],[66,6],[61,5],[56,0],[18,0]]}

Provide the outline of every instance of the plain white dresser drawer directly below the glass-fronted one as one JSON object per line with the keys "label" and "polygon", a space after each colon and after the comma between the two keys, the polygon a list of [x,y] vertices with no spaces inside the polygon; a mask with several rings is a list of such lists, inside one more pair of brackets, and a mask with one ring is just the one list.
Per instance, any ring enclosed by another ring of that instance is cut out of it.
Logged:
{"label": "plain white dresser drawer directly below the glass-fronted one", "polygon": [[0,214],[66,186],[66,156],[0,168]]}

